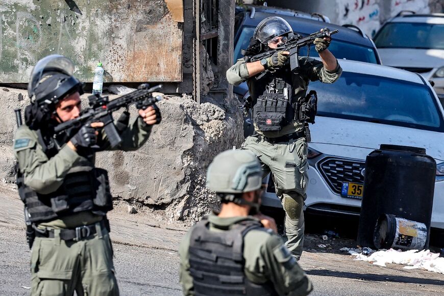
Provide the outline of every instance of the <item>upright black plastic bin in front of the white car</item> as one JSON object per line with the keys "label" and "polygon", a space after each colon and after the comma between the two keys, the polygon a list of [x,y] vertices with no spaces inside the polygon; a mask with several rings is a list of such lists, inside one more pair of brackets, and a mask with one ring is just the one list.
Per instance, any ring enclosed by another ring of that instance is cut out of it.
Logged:
{"label": "upright black plastic bin in front of the white car", "polygon": [[429,245],[436,162],[426,149],[381,145],[365,161],[358,245],[375,247],[375,226],[383,214],[424,223]]}

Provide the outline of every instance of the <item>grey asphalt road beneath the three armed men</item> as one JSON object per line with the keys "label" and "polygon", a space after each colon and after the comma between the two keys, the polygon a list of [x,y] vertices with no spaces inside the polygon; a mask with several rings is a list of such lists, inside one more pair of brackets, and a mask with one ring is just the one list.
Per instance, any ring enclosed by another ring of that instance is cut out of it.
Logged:
{"label": "grey asphalt road beneath the three armed men", "polygon": [[[30,251],[24,239],[21,203],[0,190],[0,296],[29,295]],[[143,214],[118,209],[110,215],[114,265],[121,295],[181,295],[178,244],[183,231],[166,228]],[[307,237],[314,245],[315,236]],[[310,295],[444,295],[444,275],[402,265],[380,267],[308,248],[300,264],[313,283]]]}

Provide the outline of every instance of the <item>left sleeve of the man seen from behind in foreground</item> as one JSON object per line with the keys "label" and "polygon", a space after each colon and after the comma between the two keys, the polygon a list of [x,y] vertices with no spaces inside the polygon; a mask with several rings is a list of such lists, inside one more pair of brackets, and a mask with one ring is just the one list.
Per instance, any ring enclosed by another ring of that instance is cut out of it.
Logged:
{"label": "left sleeve of the man seen from behind in foreground", "polygon": [[190,274],[190,262],[188,249],[190,247],[191,230],[189,230],[183,237],[179,245],[180,269],[179,280],[182,285],[183,294],[185,296],[194,295],[193,278]]}

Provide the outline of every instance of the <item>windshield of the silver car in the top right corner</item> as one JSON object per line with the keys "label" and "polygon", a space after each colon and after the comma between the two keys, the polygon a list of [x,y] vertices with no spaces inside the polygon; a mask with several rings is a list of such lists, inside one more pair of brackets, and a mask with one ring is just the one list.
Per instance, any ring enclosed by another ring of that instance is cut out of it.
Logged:
{"label": "windshield of the silver car in the top right corner", "polygon": [[444,25],[391,22],[375,36],[377,48],[444,50]]}

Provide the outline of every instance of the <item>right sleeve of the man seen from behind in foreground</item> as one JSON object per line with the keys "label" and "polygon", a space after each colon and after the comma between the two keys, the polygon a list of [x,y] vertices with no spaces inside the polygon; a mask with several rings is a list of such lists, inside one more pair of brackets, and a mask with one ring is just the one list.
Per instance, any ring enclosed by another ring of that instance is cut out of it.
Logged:
{"label": "right sleeve of the man seen from behind in foreground", "polygon": [[312,288],[280,237],[251,231],[245,236],[245,274],[255,283],[271,281],[279,295],[308,295]]}

